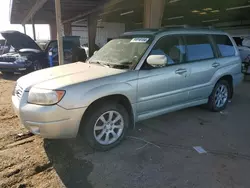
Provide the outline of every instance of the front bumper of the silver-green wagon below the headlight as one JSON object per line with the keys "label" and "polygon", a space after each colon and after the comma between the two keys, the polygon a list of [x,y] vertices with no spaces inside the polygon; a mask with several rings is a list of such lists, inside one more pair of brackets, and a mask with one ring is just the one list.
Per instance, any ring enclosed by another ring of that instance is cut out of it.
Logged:
{"label": "front bumper of the silver-green wagon below the headlight", "polygon": [[12,96],[13,108],[21,123],[43,138],[74,138],[86,108],[66,110],[58,105],[40,106],[27,103],[28,92],[21,99]]}

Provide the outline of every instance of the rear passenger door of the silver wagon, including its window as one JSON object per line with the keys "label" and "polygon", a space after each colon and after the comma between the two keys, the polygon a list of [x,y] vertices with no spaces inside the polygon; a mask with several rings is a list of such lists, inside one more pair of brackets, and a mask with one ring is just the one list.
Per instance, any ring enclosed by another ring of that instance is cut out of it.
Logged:
{"label": "rear passenger door of the silver wagon, including its window", "polygon": [[189,101],[205,99],[211,93],[210,80],[220,66],[216,50],[210,35],[186,35],[184,38],[186,63],[190,70],[187,77]]}

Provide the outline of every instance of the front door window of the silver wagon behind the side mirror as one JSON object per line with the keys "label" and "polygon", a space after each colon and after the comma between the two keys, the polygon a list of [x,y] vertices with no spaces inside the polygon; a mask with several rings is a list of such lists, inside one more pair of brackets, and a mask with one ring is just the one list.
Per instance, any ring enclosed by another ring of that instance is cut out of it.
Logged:
{"label": "front door window of the silver wagon behind the side mirror", "polygon": [[[183,45],[180,37],[166,36],[159,39],[159,41],[152,49],[150,55],[166,56],[167,64],[165,66],[182,63],[184,61],[185,56],[185,46]],[[150,66],[159,67],[157,65]]]}

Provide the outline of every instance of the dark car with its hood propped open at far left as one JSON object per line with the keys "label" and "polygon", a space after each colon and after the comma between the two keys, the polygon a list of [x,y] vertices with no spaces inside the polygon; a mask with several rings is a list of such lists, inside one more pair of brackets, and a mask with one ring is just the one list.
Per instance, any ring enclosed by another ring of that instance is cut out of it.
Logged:
{"label": "dark car with its hood propped open at far left", "polygon": [[0,56],[0,71],[3,74],[31,72],[48,67],[46,53],[29,36],[18,31],[1,34],[14,48],[13,52]]}

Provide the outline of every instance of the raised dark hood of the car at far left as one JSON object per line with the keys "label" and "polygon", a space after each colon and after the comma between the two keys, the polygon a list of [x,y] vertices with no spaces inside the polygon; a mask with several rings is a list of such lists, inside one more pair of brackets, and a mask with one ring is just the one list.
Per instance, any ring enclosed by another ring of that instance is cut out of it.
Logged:
{"label": "raised dark hood of the car at far left", "polygon": [[1,34],[16,50],[30,48],[42,51],[33,39],[19,31],[3,31]]}

